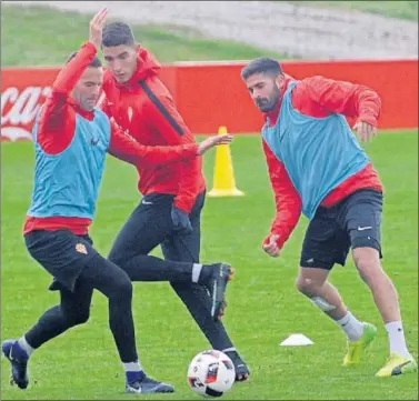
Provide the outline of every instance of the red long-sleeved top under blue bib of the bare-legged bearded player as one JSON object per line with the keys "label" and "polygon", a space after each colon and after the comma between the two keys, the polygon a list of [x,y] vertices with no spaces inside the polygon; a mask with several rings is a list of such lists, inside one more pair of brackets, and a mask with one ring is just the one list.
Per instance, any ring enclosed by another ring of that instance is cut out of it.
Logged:
{"label": "red long-sleeved top under blue bib of the bare-legged bearded player", "polygon": [[[282,96],[291,80],[291,77],[286,76],[286,84],[277,108],[272,112],[265,114],[266,118],[270,118],[271,126],[275,126],[278,120]],[[377,120],[381,110],[380,98],[371,89],[319,76],[298,81],[291,93],[291,101],[292,107],[306,116],[322,118],[330,113],[341,113],[347,117],[357,118],[358,121],[368,122],[375,127],[377,127]],[[279,235],[277,244],[279,248],[282,248],[300,218],[301,199],[283,163],[277,159],[263,139],[262,147],[268,163],[269,178],[275,192],[277,209],[270,234]],[[367,188],[382,191],[381,181],[371,163],[335,188],[323,199],[321,205],[331,207],[350,193]],[[268,242],[270,234],[265,240],[265,243]]]}

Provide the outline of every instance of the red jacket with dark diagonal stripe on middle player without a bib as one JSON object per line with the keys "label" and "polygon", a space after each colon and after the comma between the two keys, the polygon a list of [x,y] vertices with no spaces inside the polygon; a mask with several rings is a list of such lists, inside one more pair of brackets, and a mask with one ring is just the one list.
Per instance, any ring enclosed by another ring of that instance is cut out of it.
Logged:
{"label": "red jacket with dark diagonal stripe on middle player without a bib", "polygon": [[[137,71],[127,83],[118,83],[111,71],[106,72],[102,110],[139,143],[194,143],[169,90],[158,78],[161,66],[146,49],[139,48],[138,54]],[[170,167],[138,164],[137,170],[142,194],[174,194],[174,205],[186,212],[190,212],[196,197],[206,188],[200,158]]]}

